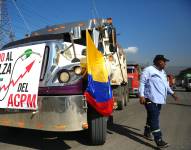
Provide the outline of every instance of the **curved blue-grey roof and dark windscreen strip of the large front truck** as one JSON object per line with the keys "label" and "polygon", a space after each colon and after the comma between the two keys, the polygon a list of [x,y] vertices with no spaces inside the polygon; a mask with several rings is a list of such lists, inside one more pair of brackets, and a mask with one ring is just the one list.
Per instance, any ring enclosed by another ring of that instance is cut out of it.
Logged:
{"label": "curved blue-grey roof and dark windscreen strip of the large front truck", "polygon": [[[104,25],[107,23],[108,20],[111,20],[111,18],[108,19],[90,19],[88,21],[77,21],[77,22],[71,22],[71,23],[65,23],[65,24],[56,24],[52,26],[47,26],[45,28],[36,30],[31,33],[30,37],[26,37],[17,41],[10,42],[3,46],[2,49],[7,49],[10,47],[15,47],[19,45],[23,45],[26,43],[31,42],[37,42],[37,41],[45,41],[45,40],[53,40],[53,39],[62,39],[66,42],[70,42],[70,35],[72,28],[79,27],[83,31],[86,29],[93,29],[94,27],[99,27],[100,25]],[[84,34],[84,33],[83,33]],[[78,40],[75,40],[76,43],[78,43]]]}

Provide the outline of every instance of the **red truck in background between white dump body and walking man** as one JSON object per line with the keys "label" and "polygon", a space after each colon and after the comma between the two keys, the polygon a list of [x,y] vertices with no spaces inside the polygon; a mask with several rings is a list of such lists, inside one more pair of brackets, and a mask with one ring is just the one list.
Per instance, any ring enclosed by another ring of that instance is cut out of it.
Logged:
{"label": "red truck in background between white dump body and walking man", "polygon": [[138,97],[140,73],[141,73],[141,67],[139,64],[127,65],[129,95],[135,95]]}

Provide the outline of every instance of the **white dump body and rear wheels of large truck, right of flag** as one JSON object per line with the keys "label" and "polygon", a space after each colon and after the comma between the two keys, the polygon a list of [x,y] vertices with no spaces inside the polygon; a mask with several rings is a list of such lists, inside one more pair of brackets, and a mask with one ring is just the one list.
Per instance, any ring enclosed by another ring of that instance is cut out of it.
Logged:
{"label": "white dump body and rear wheels of large truck, right of flag", "polygon": [[111,66],[111,86],[113,89],[114,104],[118,110],[124,109],[129,101],[129,89],[127,79],[127,59],[124,49],[117,44],[118,53],[112,54],[107,60]]}

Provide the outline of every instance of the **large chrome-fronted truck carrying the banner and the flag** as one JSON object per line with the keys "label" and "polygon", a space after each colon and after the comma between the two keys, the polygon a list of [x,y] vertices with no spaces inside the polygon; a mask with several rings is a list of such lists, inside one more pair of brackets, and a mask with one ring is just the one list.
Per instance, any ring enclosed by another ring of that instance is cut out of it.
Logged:
{"label": "large chrome-fronted truck carrying the banner and the flag", "polygon": [[45,45],[38,110],[1,109],[0,125],[46,131],[80,131],[88,128],[87,139],[93,145],[105,143],[107,117],[88,105],[83,95],[87,76],[86,68],[81,64],[86,58],[87,29],[95,45],[104,54],[113,95],[119,107],[123,108],[128,97],[126,55],[117,44],[111,18],[91,19],[48,26],[3,47],[2,50],[17,50],[41,43]]}

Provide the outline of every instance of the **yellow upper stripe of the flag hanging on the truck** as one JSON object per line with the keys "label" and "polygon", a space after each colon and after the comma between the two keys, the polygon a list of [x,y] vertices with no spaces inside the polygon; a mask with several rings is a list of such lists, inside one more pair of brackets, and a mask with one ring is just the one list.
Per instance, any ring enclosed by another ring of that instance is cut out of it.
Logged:
{"label": "yellow upper stripe of the flag hanging on the truck", "polygon": [[108,72],[103,54],[96,48],[88,30],[86,30],[86,44],[88,74],[92,75],[94,81],[108,82]]}

